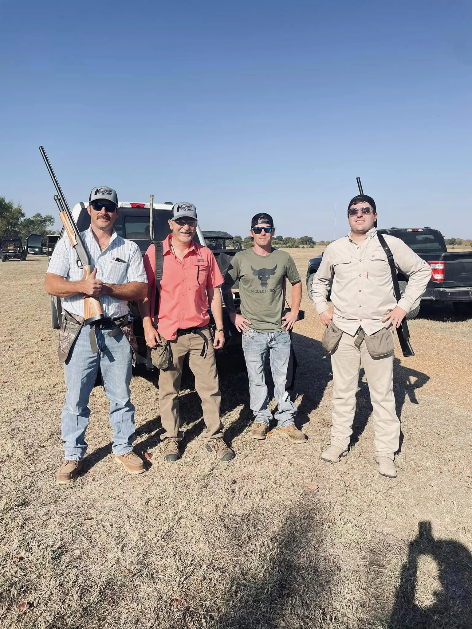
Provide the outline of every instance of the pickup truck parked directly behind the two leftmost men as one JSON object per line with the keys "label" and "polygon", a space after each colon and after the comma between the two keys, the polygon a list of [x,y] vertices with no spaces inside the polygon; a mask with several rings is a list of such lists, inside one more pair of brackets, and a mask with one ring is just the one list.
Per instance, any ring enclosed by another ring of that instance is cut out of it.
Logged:
{"label": "pickup truck parked directly behind the two leftmost men", "polygon": [[[137,243],[142,255],[145,254],[150,245],[149,238],[149,203],[120,203],[120,214],[116,218],[114,228],[116,233],[123,238],[132,240]],[[169,218],[172,215],[172,203],[155,203],[154,204],[154,239],[164,240],[171,233],[169,228]],[[85,231],[90,226],[90,216],[87,213],[87,207],[84,203],[77,203],[72,208],[72,216],[77,223],[79,231]],[[65,237],[64,230],[60,238]],[[205,238],[199,228],[195,236],[195,242],[205,245]],[[228,269],[230,260],[237,250],[226,249],[220,250],[213,248],[216,262],[223,276]],[[233,292],[235,307],[237,312],[240,311],[239,292]],[[133,318],[133,326],[135,336],[138,342],[138,362],[145,363],[146,342],[144,339],[144,331],[139,310],[135,302],[130,303],[130,316]],[[51,297],[51,325],[52,328],[59,330],[62,323],[62,305],[58,297]],[[214,323],[213,316],[210,311],[210,323]],[[235,326],[229,320],[228,313],[223,304],[223,326],[225,328],[225,346],[218,353],[240,353],[241,335]]]}

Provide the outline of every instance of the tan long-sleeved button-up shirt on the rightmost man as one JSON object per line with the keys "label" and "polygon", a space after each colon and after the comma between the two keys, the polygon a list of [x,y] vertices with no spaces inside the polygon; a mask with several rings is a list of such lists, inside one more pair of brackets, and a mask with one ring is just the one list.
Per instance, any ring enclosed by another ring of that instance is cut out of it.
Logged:
{"label": "tan long-sleeved button-up shirt on the rightmost man", "polygon": [[[383,237],[395,266],[409,278],[398,302],[398,306],[408,312],[424,293],[431,279],[431,269],[403,240],[387,234]],[[351,336],[359,326],[367,335],[381,330],[385,325],[383,316],[397,305],[390,265],[376,228],[368,231],[361,246],[351,240],[351,233],[327,246],[312,284],[313,304],[318,315],[329,308],[326,297],[331,281],[334,323]]]}

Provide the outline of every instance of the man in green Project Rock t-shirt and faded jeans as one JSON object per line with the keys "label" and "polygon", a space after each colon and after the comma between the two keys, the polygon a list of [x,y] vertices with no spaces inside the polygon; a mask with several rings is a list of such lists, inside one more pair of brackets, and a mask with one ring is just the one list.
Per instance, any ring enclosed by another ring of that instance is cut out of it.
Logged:
{"label": "man in green Project Rock t-shirt and faded jeans", "polygon": [[[250,408],[255,418],[252,437],[265,439],[272,419],[267,408],[269,396],[264,369],[269,352],[278,430],[294,443],[305,443],[306,435],[295,426],[296,406],[286,391],[291,349],[289,332],[298,317],[301,280],[291,255],[272,247],[274,231],[270,214],[259,213],[252,218],[249,233],[254,239],[254,247],[233,257],[222,286],[223,299],[231,321],[242,332]],[[292,285],[292,307],[284,315],[286,278]],[[231,290],[235,282],[239,282],[240,315],[236,313]]]}

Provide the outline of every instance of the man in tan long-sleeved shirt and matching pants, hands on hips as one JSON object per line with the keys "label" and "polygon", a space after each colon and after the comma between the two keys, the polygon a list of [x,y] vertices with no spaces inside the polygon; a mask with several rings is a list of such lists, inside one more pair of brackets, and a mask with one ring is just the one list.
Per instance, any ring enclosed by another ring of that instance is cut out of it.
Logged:
{"label": "man in tan long-sleeved shirt and matching pants, hands on hips", "polygon": [[[332,321],[342,330],[332,353],[333,411],[331,446],[321,459],[337,463],[346,456],[356,411],[359,369],[364,367],[374,419],[374,448],[379,474],[395,478],[393,461],[399,447],[400,420],[393,397],[393,351],[373,358],[365,342],[355,344],[361,331],[374,335],[383,328],[398,328],[413,304],[425,291],[431,277],[427,262],[399,238],[384,235],[398,269],[409,277],[402,299],[396,302],[390,266],[377,237],[375,201],[368,195],[354,197],[348,206],[351,233],[335,240],[323,253],[313,278],[313,303],[324,325]],[[331,301],[327,294],[332,282]],[[359,340],[362,337],[359,337]]]}

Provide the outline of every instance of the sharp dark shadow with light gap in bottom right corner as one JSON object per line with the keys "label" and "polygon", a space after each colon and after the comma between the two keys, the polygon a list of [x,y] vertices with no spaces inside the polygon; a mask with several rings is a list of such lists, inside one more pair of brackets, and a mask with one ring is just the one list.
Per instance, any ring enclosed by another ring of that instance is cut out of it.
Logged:
{"label": "sharp dark shadow with light gap in bottom right corner", "polygon": [[[419,557],[437,564],[441,590],[435,603],[422,607],[415,601]],[[455,540],[437,540],[431,523],[419,523],[417,537],[408,546],[408,559],[400,574],[388,629],[466,629],[472,626],[472,555]]]}

